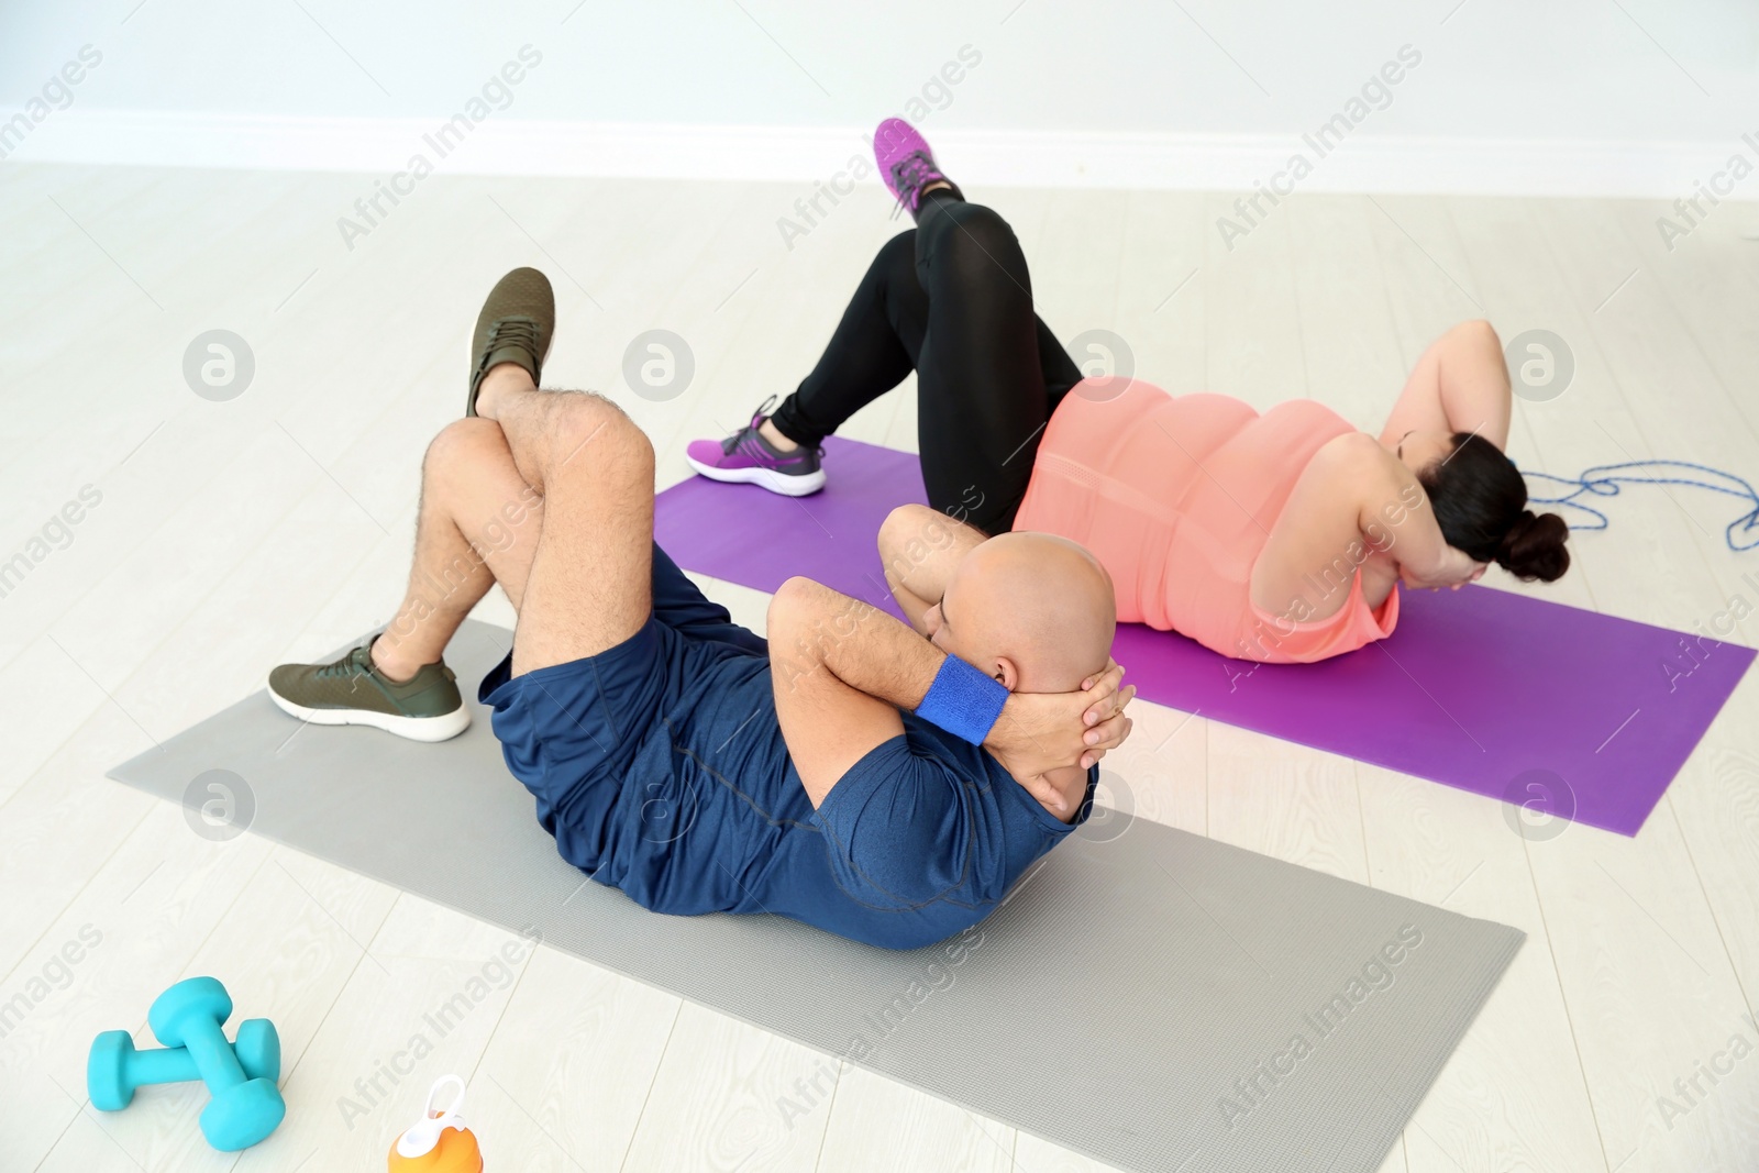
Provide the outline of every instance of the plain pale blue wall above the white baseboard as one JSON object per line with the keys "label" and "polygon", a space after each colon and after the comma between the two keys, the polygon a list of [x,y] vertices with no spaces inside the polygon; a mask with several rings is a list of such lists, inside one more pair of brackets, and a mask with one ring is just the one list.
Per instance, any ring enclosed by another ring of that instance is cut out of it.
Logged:
{"label": "plain pale blue wall above the white baseboard", "polygon": [[862,127],[969,44],[939,125],[1298,134],[1412,44],[1377,134],[1759,128],[1752,0],[0,0],[0,118],[86,44],[86,109],[445,116],[528,42],[508,118]]}

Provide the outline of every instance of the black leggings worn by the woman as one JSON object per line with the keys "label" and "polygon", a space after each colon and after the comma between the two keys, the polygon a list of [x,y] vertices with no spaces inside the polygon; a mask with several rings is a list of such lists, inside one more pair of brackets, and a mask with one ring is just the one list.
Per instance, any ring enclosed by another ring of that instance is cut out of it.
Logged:
{"label": "black leggings worn by the woman", "polygon": [[776,429],[816,445],[916,371],[916,441],[929,505],[1003,533],[1038,440],[1082,373],[1036,313],[1013,229],[946,192],[874,257]]}

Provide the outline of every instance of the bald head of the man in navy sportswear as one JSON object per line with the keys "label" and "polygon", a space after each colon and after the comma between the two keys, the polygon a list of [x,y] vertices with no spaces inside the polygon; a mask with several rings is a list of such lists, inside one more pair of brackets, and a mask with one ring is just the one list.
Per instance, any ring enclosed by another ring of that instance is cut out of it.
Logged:
{"label": "bald head of the man in navy sportswear", "polygon": [[1004,533],[959,563],[932,638],[1022,693],[1066,693],[1106,665],[1117,626],[1112,579],[1084,547]]}

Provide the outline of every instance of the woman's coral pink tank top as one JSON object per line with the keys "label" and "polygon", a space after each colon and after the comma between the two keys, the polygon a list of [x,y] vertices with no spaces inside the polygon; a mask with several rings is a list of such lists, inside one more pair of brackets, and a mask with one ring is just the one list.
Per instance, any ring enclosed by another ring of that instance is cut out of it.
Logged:
{"label": "woman's coral pink tank top", "polygon": [[[1263,415],[1228,396],[1170,396],[1142,382],[1082,382],[1045,427],[1015,529],[1080,542],[1117,589],[1117,617],[1265,663],[1310,663],[1384,638],[1398,589],[1293,623],[1251,600],[1252,565],[1307,461],[1354,431],[1312,399]],[[1110,396],[1110,397],[1101,397]]]}

